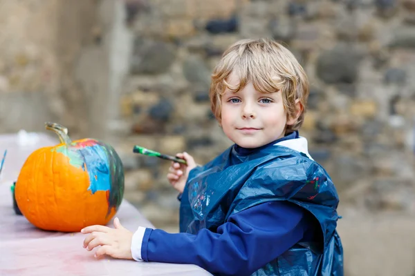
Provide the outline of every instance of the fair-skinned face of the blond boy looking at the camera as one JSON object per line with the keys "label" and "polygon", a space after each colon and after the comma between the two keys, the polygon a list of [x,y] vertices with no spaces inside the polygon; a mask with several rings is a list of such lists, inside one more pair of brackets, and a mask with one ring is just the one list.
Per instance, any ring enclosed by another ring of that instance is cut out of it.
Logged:
{"label": "fair-skinned face of the blond boy looking at the camera", "polygon": [[[239,79],[233,73],[231,86]],[[226,90],[222,96],[221,126],[225,135],[243,148],[257,148],[284,137],[287,121],[281,92],[263,94],[252,83],[234,93]]]}

